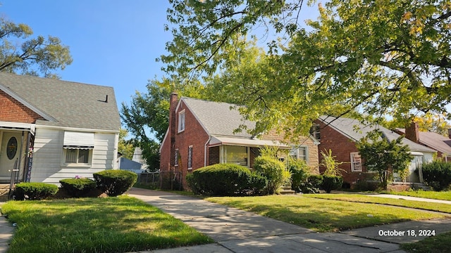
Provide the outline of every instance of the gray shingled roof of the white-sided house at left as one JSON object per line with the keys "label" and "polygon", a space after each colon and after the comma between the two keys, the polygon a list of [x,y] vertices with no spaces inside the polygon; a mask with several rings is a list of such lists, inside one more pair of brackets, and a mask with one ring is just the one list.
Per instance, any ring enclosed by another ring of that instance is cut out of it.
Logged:
{"label": "gray shingled roof of the white-sided house at left", "polygon": [[2,72],[0,84],[56,119],[36,124],[113,131],[121,127],[113,87]]}

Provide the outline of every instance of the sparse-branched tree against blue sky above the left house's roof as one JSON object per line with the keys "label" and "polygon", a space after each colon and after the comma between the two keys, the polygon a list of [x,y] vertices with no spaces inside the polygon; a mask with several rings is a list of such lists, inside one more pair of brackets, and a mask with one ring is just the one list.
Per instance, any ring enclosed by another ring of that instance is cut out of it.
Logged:
{"label": "sparse-branched tree against blue sky above the left house's roof", "polygon": [[32,34],[28,25],[0,18],[0,71],[58,78],[52,71],[72,63],[69,47],[57,37],[30,38]]}

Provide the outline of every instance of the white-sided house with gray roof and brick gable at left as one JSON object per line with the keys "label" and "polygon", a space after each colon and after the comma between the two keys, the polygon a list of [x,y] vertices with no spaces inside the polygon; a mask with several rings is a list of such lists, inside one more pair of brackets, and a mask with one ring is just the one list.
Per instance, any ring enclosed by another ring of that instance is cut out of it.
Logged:
{"label": "white-sided house with gray roof and brick gable at left", "polygon": [[116,169],[120,126],[112,87],[0,73],[0,181]]}

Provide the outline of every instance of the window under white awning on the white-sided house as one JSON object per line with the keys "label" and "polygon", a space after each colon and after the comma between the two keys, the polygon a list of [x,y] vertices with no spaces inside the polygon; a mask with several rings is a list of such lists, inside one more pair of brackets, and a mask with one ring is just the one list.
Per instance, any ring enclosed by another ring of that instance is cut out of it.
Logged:
{"label": "window under white awning on the white-sided house", "polygon": [[90,165],[94,149],[94,133],[65,131],[63,140],[63,165]]}

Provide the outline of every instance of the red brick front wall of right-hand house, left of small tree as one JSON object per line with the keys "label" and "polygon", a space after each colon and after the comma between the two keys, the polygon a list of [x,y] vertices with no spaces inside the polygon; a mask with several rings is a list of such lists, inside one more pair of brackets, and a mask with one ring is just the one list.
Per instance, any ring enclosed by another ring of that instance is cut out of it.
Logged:
{"label": "red brick front wall of right-hand house, left of small tree", "polygon": [[[330,126],[326,126],[323,122],[317,120],[317,124],[320,125],[321,131],[321,143],[319,144],[319,162],[321,163],[322,156],[321,151],[332,150],[332,155],[335,156],[335,160],[338,162],[343,162],[340,168],[343,169],[342,176],[344,183],[350,183],[353,185],[357,179],[362,179],[364,172],[366,172],[365,167],[362,171],[351,171],[351,153],[358,152],[355,143],[347,138],[339,131],[336,131]],[[326,169],[322,166],[319,167],[319,171],[322,174]]]}

